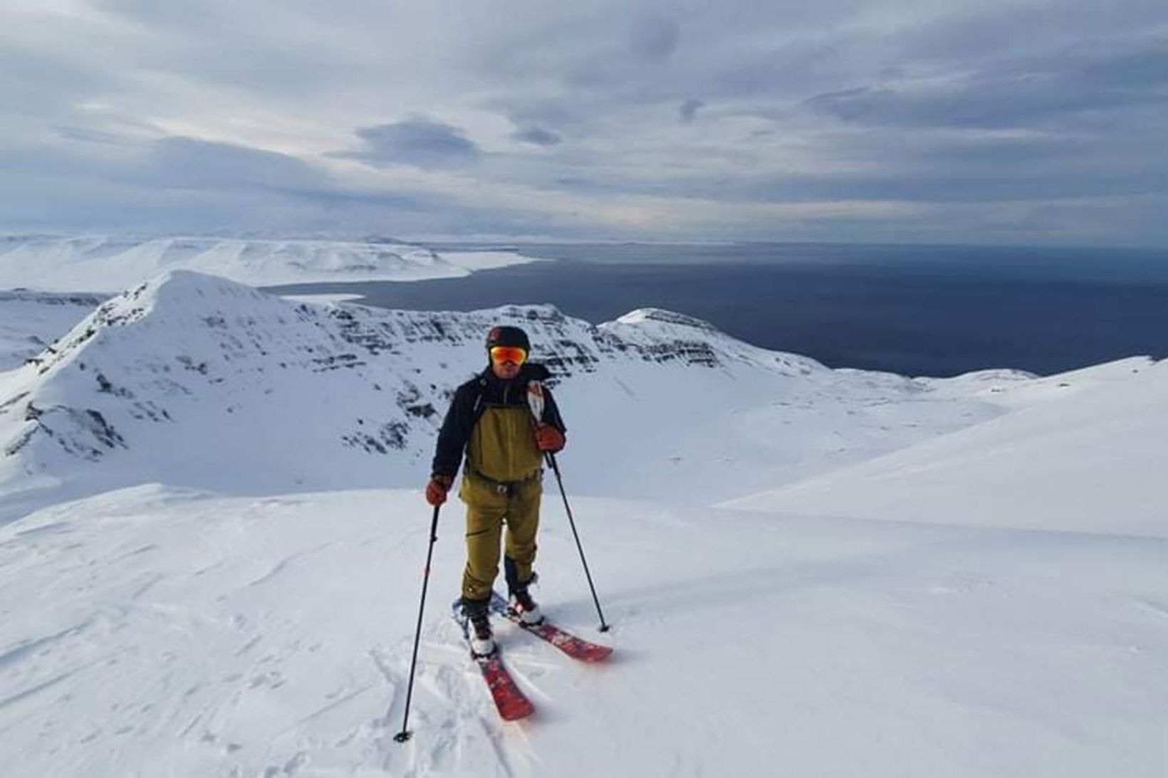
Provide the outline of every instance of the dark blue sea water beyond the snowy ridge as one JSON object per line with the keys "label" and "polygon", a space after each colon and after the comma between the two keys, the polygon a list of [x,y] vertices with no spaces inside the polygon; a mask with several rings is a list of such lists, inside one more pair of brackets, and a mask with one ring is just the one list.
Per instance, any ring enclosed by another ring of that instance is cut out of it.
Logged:
{"label": "dark blue sea water beyond the snowy ridge", "polygon": [[551,303],[592,322],[662,307],[830,367],[905,375],[985,368],[1048,375],[1138,354],[1168,355],[1163,250],[776,243],[508,248],[551,262],[459,279],[280,291],[355,292],[367,305],[406,310]]}

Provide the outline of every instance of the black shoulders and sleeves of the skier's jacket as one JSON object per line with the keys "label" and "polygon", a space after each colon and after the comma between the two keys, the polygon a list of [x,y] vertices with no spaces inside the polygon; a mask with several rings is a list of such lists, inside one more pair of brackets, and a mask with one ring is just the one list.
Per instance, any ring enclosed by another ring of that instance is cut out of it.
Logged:
{"label": "black shoulders and sleeves of the skier's jacket", "polygon": [[[438,447],[430,467],[431,475],[447,475],[451,479],[458,474],[463,464],[466,443],[471,439],[471,430],[487,405],[523,405],[527,407],[527,382],[545,381],[551,374],[542,364],[524,363],[510,381],[495,376],[491,366],[471,378],[454,391],[454,398],[446,411],[446,418],[438,431]],[[551,424],[561,432],[566,432],[564,419],[559,416],[551,390],[543,388],[543,422]]]}

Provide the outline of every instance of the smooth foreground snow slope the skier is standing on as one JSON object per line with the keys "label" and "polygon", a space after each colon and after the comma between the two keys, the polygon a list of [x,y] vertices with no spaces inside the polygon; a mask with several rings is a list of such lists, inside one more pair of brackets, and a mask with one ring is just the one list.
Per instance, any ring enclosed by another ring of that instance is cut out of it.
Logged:
{"label": "smooth foreground snow slope the skier is standing on", "polygon": [[0,528],[0,758],[39,776],[1153,778],[1168,543],[556,500],[538,596],[616,647],[500,626],[537,708],[459,647],[445,509],[405,745],[418,491],[111,492]]}

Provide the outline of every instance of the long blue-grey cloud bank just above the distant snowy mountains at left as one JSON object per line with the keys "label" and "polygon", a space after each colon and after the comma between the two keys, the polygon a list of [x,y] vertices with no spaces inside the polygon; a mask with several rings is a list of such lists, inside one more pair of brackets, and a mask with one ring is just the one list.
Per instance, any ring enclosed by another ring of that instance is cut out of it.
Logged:
{"label": "long blue-grey cloud bank just above the distant snowy mountains at left", "polygon": [[[425,192],[347,188],[294,157],[190,138],[139,143],[135,154],[119,159],[48,147],[0,150],[0,227],[298,235],[371,225],[450,230],[457,222],[445,220],[465,208]],[[478,221],[486,218],[480,214]]]}

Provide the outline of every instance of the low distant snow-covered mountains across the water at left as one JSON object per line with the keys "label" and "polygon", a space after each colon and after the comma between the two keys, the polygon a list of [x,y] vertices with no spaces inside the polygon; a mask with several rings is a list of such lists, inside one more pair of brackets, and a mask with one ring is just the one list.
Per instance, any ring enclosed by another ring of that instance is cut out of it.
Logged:
{"label": "low distant snow-covered mountains across the water at left", "polygon": [[217,237],[0,236],[0,289],[117,292],[165,270],[194,270],[253,286],[453,278],[534,262],[516,251],[443,251],[366,241]]}

